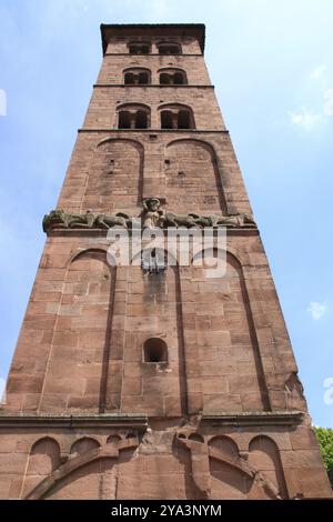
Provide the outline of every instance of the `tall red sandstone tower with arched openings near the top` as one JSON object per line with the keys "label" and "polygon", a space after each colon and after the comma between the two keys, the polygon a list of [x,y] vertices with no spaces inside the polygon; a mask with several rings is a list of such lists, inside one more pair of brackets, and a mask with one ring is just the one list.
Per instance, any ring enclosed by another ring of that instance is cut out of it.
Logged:
{"label": "tall red sandstone tower with arched openings near the top", "polygon": [[[0,496],[330,496],[204,26],[101,32],[0,410]],[[215,247],[201,264],[110,262],[131,218],[224,227],[225,273],[210,275]]]}

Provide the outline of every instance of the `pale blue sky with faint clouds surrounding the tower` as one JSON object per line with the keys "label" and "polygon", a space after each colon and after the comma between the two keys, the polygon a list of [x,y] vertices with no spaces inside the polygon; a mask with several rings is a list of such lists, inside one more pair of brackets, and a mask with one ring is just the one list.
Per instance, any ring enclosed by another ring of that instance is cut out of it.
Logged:
{"label": "pale blue sky with faint clouds surrounding the tower", "polygon": [[331,0],[0,0],[0,383],[101,63],[101,22],[206,24],[310,412],[332,428]]}

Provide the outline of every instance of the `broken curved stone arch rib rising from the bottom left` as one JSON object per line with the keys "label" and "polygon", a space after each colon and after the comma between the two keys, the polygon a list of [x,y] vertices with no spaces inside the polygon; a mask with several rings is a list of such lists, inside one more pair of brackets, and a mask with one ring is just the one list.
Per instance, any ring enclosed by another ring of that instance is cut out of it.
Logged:
{"label": "broken curved stone arch rib rising from the bottom left", "polygon": [[[81,468],[87,466],[93,462],[97,462],[101,459],[119,459],[119,453],[125,450],[134,451],[139,445],[139,439],[135,434],[120,434],[111,435],[108,439],[108,442],[103,445],[100,445],[95,439],[92,438],[81,438],[72,444],[72,448],[80,441],[85,440],[85,442],[91,442],[91,449],[87,452],[80,454],[73,452],[67,462],[58,465],[48,476],[39,482],[28,494],[24,495],[24,500],[41,500],[47,498],[52,489],[56,486],[61,486],[61,483],[73,472],[78,471]],[[54,441],[56,442],[56,441]],[[57,442],[56,442],[57,443]],[[93,448],[94,445],[94,448]]]}

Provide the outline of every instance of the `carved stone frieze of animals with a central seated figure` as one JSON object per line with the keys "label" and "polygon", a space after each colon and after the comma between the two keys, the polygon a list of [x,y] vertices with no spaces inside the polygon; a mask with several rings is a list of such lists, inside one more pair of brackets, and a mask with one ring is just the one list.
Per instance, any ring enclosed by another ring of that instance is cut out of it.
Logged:
{"label": "carved stone frieze of animals with a central seated figure", "polygon": [[[143,229],[168,229],[174,228],[198,228],[205,227],[228,227],[228,228],[256,228],[253,215],[250,213],[234,213],[229,215],[198,215],[195,213],[175,214],[161,209],[161,201],[158,198],[148,198],[142,202],[140,214]],[[138,218],[135,218],[138,219]],[[131,228],[132,218],[123,212],[115,214],[93,213],[87,210],[84,214],[72,214],[62,209],[51,210],[43,218],[43,231],[53,229],[110,229],[112,227]]]}

